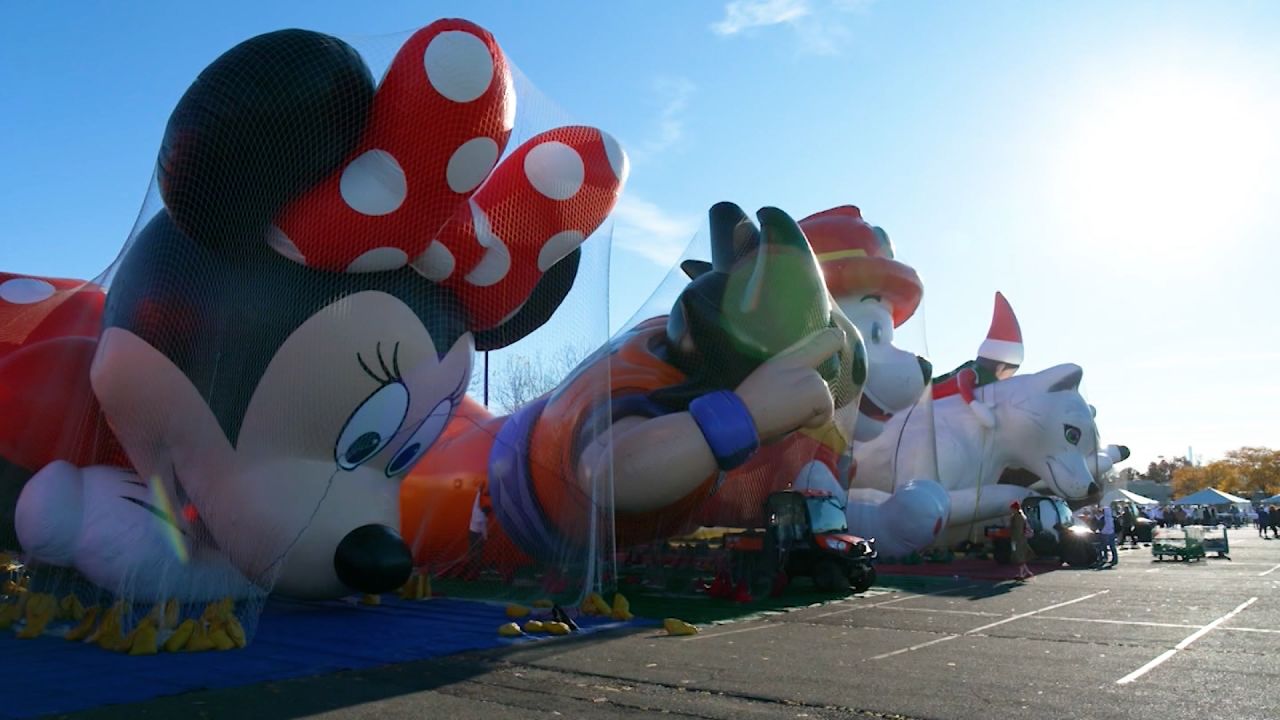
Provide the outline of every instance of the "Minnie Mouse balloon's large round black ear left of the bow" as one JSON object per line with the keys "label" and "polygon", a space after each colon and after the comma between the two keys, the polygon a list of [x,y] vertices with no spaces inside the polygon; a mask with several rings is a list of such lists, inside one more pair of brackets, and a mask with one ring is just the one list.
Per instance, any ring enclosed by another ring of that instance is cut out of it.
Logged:
{"label": "Minnie Mouse balloon's large round black ear left of the bow", "polygon": [[335,37],[284,29],[228,50],[165,128],[157,176],[169,214],[204,245],[260,242],[356,146],[372,97],[369,68]]}

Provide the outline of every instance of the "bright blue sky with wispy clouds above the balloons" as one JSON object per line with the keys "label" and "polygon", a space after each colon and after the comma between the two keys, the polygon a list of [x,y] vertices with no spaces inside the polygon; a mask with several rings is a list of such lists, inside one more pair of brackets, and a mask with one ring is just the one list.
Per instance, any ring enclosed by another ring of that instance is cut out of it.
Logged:
{"label": "bright blue sky with wispy clouds above the balloons", "polygon": [[1025,369],[1083,365],[1106,438],[1143,464],[1280,445],[1272,3],[10,4],[0,269],[104,270],[173,104],[234,44],[303,27],[385,49],[438,17],[494,32],[549,99],[526,109],[630,150],[614,325],[710,204],[851,202],[924,278],[908,345],[940,369],[1001,290]]}

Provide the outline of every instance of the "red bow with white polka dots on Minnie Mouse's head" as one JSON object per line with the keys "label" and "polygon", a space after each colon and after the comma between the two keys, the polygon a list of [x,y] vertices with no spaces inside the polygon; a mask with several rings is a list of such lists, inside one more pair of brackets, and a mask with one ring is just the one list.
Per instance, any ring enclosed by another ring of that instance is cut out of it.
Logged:
{"label": "red bow with white polka dots on Minnie Mouse's head", "polygon": [[356,150],[276,218],[270,242],[308,266],[406,264],[494,327],[604,222],[627,176],[608,135],[561,127],[502,163],[516,115],[497,41],[466,20],[416,32],[392,61]]}

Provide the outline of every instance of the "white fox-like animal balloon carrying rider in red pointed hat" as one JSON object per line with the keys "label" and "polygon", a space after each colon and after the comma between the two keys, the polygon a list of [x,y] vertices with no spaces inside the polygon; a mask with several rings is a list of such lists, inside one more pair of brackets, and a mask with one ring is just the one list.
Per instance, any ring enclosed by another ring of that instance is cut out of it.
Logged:
{"label": "white fox-like animal balloon carrying rider in red pointed hat", "polygon": [[[966,539],[1033,492],[1073,503],[1096,496],[1123,451],[1098,442],[1094,409],[1079,392],[1083,370],[1059,365],[1014,377],[1021,363],[1021,328],[997,292],[977,359],[933,379],[932,418],[895,419],[882,437],[855,447],[850,527],[901,555]],[[934,447],[937,473],[899,484],[896,468]]]}

